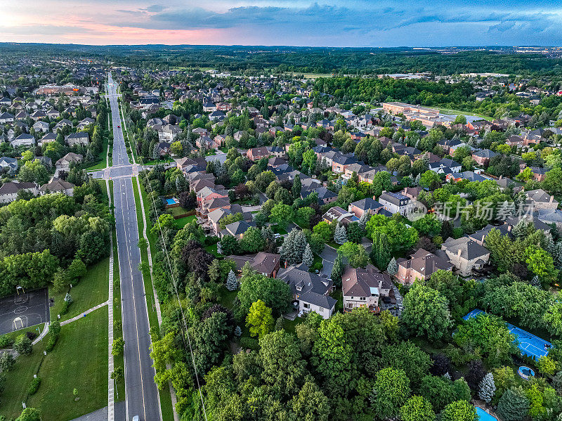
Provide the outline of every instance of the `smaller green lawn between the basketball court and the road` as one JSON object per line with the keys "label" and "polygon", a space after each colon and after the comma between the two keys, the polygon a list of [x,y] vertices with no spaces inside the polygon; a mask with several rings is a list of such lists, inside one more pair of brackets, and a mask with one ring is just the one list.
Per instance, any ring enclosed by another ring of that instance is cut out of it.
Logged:
{"label": "smaller green lawn between the basketball court and the road", "polygon": [[[70,289],[72,295],[72,304],[66,314],[60,315],[60,320],[67,320],[78,316],[82,311],[91,309],[107,301],[109,294],[109,271],[110,271],[110,258],[106,257],[102,261],[93,264],[88,268],[86,275],[84,275],[77,285]],[[66,290],[63,292],[55,292],[53,287],[49,287],[49,297],[55,299],[54,306],[51,307],[51,320],[57,320],[57,315],[63,306],[66,295]]]}

